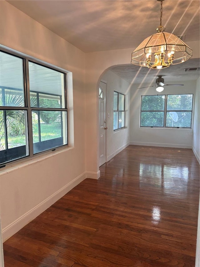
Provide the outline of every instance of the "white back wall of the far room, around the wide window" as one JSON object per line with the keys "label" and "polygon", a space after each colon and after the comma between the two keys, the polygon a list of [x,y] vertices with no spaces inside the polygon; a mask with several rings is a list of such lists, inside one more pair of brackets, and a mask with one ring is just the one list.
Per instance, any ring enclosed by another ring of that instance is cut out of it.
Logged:
{"label": "white back wall of the far room, around the wide window", "polygon": [[[173,81],[174,84],[180,81]],[[184,81],[184,86],[164,87],[162,94],[194,94],[196,93],[196,81]],[[142,87],[148,84],[142,84]],[[155,87],[137,89],[141,85],[133,85],[131,88],[131,114],[130,114],[130,144],[147,146],[169,146],[192,148],[192,129],[161,129],[140,128],[140,103],[141,95],[157,95]]]}

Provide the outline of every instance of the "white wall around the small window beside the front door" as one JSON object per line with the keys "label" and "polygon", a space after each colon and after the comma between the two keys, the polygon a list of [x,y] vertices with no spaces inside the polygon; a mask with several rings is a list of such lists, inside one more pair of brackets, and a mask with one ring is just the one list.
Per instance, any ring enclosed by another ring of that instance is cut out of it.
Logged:
{"label": "white wall around the small window beside the front door", "polygon": [[[130,85],[125,80],[121,79],[112,71],[106,71],[101,77],[107,83],[107,161],[113,158],[117,153],[122,151],[129,145],[129,101],[130,101]],[[114,91],[126,95],[126,127],[121,130],[113,131],[113,94]],[[108,118],[108,113],[110,117]]]}

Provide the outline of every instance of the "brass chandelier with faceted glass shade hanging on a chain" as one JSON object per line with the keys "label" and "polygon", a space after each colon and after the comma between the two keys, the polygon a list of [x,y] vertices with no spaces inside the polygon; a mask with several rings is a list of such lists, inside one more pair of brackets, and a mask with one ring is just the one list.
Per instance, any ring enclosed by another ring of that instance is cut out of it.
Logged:
{"label": "brass chandelier with faceted glass shade hanging on a chain", "polygon": [[151,69],[163,69],[180,64],[192,57],[192,49],[173,33],[163,33],[163,1],[160,8],[160,26],[146,38],[132,53],[131,63]]}

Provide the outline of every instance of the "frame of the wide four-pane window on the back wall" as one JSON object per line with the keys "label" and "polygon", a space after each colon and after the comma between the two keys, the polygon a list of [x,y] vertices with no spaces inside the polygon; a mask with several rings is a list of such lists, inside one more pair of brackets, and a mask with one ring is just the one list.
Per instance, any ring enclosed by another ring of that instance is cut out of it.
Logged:
{"label": "frame of the wide four-pane window on the back wall", "polygon": [[[168,95],[192,95],[192,109],[191,110],[167,110],[167,101],[168,101]],[[154,95],[141,95],[141,101],[140,101],[140,128],[160,128],[160,129],[192,129],[192,122],[193,122],[193,105],[194,105],[194,94],[165,94],[164,98],[164,110],[142,110],[142,97],[143,96],[154,96]],[[158,96],[158,95],[156,95]],[[167,112],[170,111],[177,111],[177,112],[191,112],[191,123],[190,127],[177,127],[177,126],[166,126],[167,121]],[[164,112],[164,119],[163,119],[163,126],[141,126],[141,114],[142,112]]]}

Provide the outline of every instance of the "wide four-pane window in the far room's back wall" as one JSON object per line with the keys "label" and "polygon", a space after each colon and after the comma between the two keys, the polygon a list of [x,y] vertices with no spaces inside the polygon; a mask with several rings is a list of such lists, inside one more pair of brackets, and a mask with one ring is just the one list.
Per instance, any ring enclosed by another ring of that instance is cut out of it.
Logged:
{"label": "wide four-pane window in the far room's back wall", "polygon": [[191,128],[193,95],[142,95],[140,127]]}

